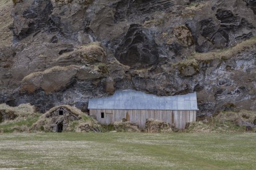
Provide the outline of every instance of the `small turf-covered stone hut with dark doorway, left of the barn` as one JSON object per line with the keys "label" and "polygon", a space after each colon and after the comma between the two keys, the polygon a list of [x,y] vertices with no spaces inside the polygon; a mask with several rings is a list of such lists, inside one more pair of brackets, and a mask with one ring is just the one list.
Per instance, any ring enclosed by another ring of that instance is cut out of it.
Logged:
{"label": "small turf-covered stone hut with dark doorway, left of the barn", "polygon": [[101,126],[80,109],[70,105],[59,105],[40,116],[32,125],[32,129],[53,132],[100,132]]}

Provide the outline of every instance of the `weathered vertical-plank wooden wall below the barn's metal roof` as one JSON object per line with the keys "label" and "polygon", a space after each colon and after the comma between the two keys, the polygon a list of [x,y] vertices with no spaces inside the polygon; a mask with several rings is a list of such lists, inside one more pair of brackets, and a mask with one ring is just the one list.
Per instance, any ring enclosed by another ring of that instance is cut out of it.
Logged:
{"label": "weathered vertical-plank wooden wall below the barn's metal roof", "polygon": [[[101,118],[101,113],[104,113],[104,118]],[[147,118],[174,123],[178,129],[184,129],[187,122],[196,121],[196,111],[90,109],[90,115],[105,125],[128,118],[141,128],[144,128]]]}

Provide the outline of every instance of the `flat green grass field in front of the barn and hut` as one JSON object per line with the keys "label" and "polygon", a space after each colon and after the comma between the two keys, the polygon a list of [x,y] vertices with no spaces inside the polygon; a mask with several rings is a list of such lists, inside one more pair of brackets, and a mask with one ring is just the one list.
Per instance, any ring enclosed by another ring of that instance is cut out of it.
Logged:
{"label": "flat green grass field in front of the barn and hut", "polygon": [[0,169],[256,169],[256,133],[0,135]]}

